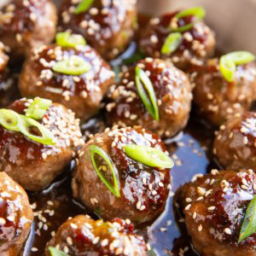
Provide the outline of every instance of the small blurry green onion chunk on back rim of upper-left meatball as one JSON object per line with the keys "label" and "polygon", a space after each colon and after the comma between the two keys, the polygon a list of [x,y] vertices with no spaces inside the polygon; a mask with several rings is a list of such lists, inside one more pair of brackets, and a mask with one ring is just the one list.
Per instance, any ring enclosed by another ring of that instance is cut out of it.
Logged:
{"label": "small blurry green onion chunk on back rim of upper-left meatball", "polygon": [[86,41],[81,35],[59,32],[56,34],[56,43],[61,47],[75,48],[77,45],[85,45]]}

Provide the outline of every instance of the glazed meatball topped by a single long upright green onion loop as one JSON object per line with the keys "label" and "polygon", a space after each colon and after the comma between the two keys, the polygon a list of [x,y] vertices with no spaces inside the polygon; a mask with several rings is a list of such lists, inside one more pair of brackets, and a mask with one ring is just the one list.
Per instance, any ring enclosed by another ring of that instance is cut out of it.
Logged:
{"label": "glazed meatball topped by a single long upright green onion loop", "polygon": [[[136,68],[148,75],[157,99],[159,120],[143,104],[137,90]],[[142,125],[161,137],[172,137],[183,130],[189,119],[192,87],[188,77],[172,62],[146,58],[123,73],[119,84],[110,89],[107,120],[110,124]]]}

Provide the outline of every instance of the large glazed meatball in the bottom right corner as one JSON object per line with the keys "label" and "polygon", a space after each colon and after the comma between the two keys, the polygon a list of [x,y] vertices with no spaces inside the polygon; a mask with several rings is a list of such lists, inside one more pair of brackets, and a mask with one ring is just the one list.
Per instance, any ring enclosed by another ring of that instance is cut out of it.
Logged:
{"label": "large glazed meatball in the bottom right corner", "polygon": [[177,192],[192,244],[207,256],[254,256],[256,236],[238,243],[247,206],[256,195],[253,171],[212,170]]}

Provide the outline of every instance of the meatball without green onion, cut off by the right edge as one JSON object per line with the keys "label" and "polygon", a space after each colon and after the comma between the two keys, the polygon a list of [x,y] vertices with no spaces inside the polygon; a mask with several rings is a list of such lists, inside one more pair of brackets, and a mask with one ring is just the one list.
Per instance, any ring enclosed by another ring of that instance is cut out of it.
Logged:
{"label": "meatball without green onion, cut off by the right edge", "polygon": [[213,154],[225,169],[256,170],[256,113],[244,113],[221,125],[216,132]]}

